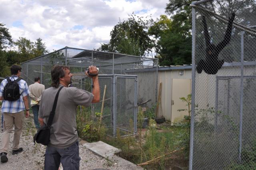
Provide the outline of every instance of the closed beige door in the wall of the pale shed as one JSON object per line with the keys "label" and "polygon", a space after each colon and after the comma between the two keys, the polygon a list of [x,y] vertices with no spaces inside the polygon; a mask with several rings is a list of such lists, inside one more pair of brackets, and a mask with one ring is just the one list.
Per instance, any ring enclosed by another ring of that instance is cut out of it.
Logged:
{"label": "closed beige door in the wall of the pale shed", "polygon": [[185,102],[180,100],[181,97],[187,97],[191,94],[191,79],[172,79],[172,116],[171,122],[179,122],[184,118],[184,115],[188,115],[186,111],[177,111],[178,109],[187,109]]}

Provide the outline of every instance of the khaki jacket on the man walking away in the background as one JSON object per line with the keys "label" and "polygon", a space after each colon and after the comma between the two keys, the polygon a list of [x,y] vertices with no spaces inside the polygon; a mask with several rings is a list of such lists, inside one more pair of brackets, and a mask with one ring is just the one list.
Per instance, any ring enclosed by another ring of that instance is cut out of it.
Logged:
{"label": "khaki jacket on the man walking away in the background", "polygon": [[[31,100],[34,101],[38,101],[37,105],[40,105],[40,100],[41,100],[41,96],[42,93],[44,92],[44,85],[43,84],[39,84],[38,82],[35,82],[34,84],[31,84],[28,86],[28,90],[29,90],[29,96]],[[30,102],[30,106],[34,106],[36,104],[32,104],[32,102]]]}

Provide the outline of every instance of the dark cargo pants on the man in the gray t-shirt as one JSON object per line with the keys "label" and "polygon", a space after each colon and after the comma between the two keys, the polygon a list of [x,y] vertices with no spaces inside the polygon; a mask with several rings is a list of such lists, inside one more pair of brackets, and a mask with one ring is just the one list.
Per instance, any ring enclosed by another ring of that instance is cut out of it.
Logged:
{"label": "dark cargo pants on the man in the gray t-shirt", "polygon": [[46,147],[44,170],[58,170],[60,162],[63,170],[79,170],[80,157],[78,141],[64,149],[51,146]]}

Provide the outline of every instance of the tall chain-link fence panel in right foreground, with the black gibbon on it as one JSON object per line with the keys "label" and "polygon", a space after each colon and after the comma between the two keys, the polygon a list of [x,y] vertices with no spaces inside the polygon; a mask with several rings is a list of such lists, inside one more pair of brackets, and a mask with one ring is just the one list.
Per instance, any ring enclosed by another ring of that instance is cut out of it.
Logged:
{"label": "tall chain-link fence panel in right foreground, with the black gibbon on it", "polygon": [[190,170],[256,169],[256,1],[191,6]]}

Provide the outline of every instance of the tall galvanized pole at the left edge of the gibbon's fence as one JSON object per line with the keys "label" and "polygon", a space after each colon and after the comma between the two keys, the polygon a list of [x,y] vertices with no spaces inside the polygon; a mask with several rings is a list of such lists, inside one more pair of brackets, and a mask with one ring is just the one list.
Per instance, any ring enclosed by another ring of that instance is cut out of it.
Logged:
{"label": "tall galvanized pole at the left edge of the gibbon's fence", "polygon": [[[192,2],[192,4],[195,2]],[[196,11],[192,8],[192,96],[191,96],[191,121],[190,121],[190,146],[189,146],[189,170],[192,170],[193,164],[193,146],[194,146],[194,112],[195,112],[195,78],[196,78]]]}

